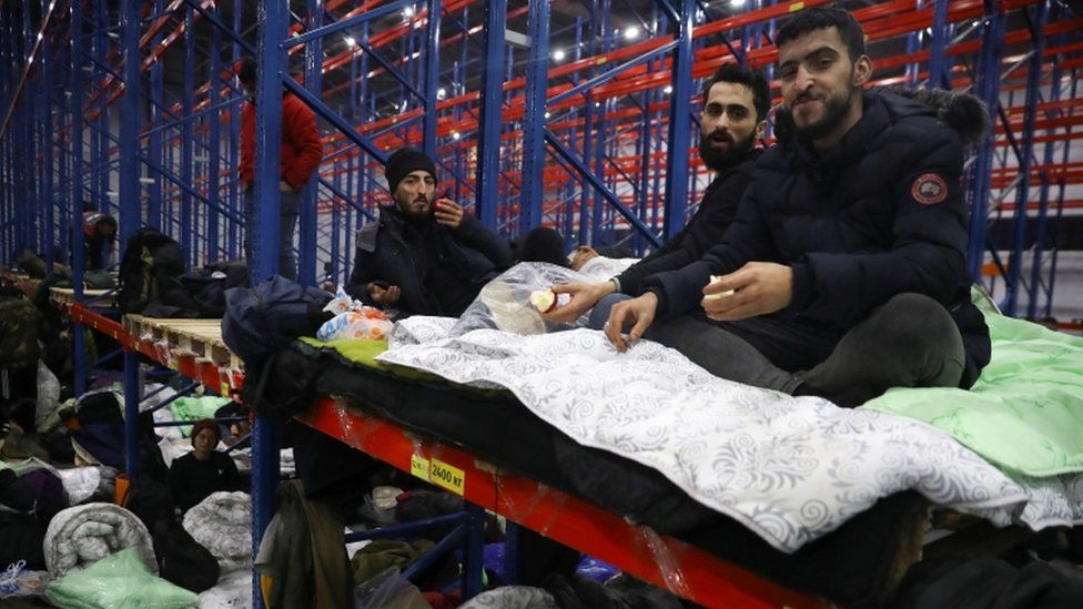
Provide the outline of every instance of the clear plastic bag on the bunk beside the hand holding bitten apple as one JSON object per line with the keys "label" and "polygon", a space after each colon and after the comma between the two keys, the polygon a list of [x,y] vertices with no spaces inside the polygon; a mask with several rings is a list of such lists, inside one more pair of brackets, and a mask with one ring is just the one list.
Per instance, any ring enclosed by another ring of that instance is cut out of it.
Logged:
{"label": "clear plastic bag on the bunk beside the hand holding bitten apple", "polygon": [[490,281],[452,326],[452,336],[480,328],[496,328],[514,334],[545,334],[586,327],[585,313],[570,324],[554,324],[542,318],[530,303],[530,294],[556,284],[588,282],[589,277],[547,262],[523,262]]}

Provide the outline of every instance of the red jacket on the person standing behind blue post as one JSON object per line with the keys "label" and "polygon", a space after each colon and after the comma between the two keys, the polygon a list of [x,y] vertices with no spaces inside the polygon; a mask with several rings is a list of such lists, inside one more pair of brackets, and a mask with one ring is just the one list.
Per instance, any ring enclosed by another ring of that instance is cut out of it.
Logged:
{"label": "red jacket on the person standing behind blue post", "polygon": [[[294,189],[308,183],[323,159],[316,115],[296,97],[282,95],[282,179]],[[255,104],[241,109],[241,181],[255,181]]]}

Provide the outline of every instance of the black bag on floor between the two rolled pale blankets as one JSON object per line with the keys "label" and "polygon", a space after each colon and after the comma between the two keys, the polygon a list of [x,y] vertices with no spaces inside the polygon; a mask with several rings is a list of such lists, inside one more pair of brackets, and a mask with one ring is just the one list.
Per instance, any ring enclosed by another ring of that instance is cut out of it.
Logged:
{"label": "black bag on floor between the two rolled pale blankets", "polygon": [[180,522],[166,518],[150,529],[160,577],[195,593],[217,583],[219,561]]}

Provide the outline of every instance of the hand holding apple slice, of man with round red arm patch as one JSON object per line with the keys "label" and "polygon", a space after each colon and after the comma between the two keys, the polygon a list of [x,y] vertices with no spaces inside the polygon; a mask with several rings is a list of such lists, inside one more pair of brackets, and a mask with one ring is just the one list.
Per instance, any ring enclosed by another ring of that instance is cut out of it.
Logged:
{"label": "hand holding apple slice, of man with round red arm patch", "polygon": [[709,296],[730,290],[732,294],[702,301],[707,317],[716,322],[733,322],[785,308],[793,297],[793,270],[773,262],[750,262],[707,284],[704,294]]}

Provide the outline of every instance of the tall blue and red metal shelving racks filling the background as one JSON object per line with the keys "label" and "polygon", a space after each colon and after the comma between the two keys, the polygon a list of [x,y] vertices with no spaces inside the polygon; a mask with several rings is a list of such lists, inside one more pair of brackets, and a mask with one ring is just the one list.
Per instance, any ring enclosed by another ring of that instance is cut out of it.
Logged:
{"label": "tall blue and red metal shelving racks filling the background", "polygon": [[[261,216],[243,226],[235,172],[233,69],[249,53],[266,77],[259,142],[280,138],[281,88],[316,111],[325,135],[302,212],[302,282],[323,263],[340,282],[348,275],[354,232],[388,201],[381,165],[403,143],[437,156],[441,189],[502,234],[547,225],[568,245],[642,253],[680,229],[710,179],[694,146],[697,79],[727,61],[772,75],[779,22],[826,3],[657,0],[647,13],[594,0],[558,18],[548,2],[507,0],[295,0],[260,3],[257,16],[241,0],[3,2],[0,261],[31,248],[52,264],[71,251],[78,278],[89,202],[119,216],[119,251],[138,227],[158,226],[196,265],[239,256],[249,230],[255,277],[273,274],[277,176],[257,174]],[[850,8],[878,84],[966,90],[989,105],[995,134],[964,183],[971,272],[1006,313],[1049,314],[1059,243],[1083,207],[1083,16],[1055,0]],[[276,145],[257,151],[257,166],[277,164]],[[255,450],[275,455],[271,444],[260,425]],[[270,457],[256,468],[255,542],[274,471]]]}

